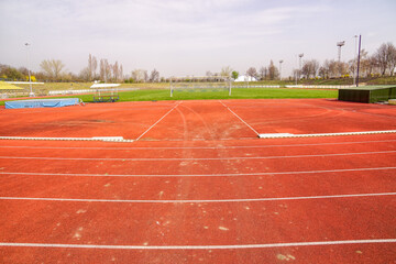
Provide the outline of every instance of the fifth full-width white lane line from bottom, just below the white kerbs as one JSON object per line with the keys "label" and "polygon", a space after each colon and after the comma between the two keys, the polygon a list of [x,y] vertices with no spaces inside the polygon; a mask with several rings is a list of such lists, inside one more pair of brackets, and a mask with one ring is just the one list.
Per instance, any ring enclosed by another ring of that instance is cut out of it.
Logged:
{"label": "fifth full-width white lane line from bottom, just below the white kerbs", "polygon": [[0,148],[38,148],[38,150],[113,150],[113,151],[131,151],[131,150],[219,150],[219,148],[271,148],[271,147],[294,147],[294,146],[321,146],[321,145],[349,145],[349,144],[371,144],[371,143],[389,143],[396,140],[383,141],[351,141],[351,142],[328,142],[328,143],[307,143],[307,144],[288,144],[288,145],[235,145],[235,146],[131,146],[131,147],[100,147],[100,146],[6,146]]}

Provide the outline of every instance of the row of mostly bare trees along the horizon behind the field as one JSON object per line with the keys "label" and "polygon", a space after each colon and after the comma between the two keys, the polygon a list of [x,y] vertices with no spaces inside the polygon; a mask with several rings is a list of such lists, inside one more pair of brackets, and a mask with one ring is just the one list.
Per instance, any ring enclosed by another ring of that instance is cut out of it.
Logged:
{"label": "row of mostly bare trees along the horizon behind the field", "polygon": [[[293,76],[288,79],[298,78],[348,78],[355,76],[356,58],[349,62],[339,62],[336,59],[326,59],[320,64],[317,59],[306,59],[301,68],[294,69]],[[44,81],[94,81],[103,82],[158,82],[168,81],[169,78],[160,76],[155,68],[150,73],[145,69],[134,69],[125,76],[123,66],[119,62],[109,63],[107,58],[97,59],[89,54],[87,66],[78,75],[66,70],[65,64],[61,59],[44,59],[40,64],[41,70],[31,73],[32,80]],[[396,69],[396,47],[393,43],[382,44],[372,55],[365,50],[361,51],[360,76],[380,77],[394,76]],[[255,67],[246,69],[246,76],[254,77],[257,80],[276,80],[280,78],[279,68],[271,61],[270,65],[262,66],[258,70]],[[242,74],[242,75],[243,75]],[[232,77],[237,79],[240,73],[233,70],[230,66],[222,67],[219,73],[207,72],[208,77]],[[14,68],[9,65],[0,64],[0,79],[8,80],[29,80],[29,70],[25,67]],[[186,77],[188,79],[188,77]],[[210,78],[208,78],[210,79]]]}

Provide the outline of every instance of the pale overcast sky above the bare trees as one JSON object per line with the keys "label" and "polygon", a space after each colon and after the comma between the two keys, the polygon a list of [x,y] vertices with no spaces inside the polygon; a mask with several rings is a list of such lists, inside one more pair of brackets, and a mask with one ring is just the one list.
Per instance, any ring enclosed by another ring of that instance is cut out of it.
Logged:
{"label": "pale overcast sky above the bare trees", "polygon": [[[244,74],[271,61],[289,76],[302,59],[354,57],[396,45],[395,0],[0,0],[0,64],[41,70],[61,59],[78,74],[88,56],[163,77]],[[30,43],[26,47],[24,44]]]}

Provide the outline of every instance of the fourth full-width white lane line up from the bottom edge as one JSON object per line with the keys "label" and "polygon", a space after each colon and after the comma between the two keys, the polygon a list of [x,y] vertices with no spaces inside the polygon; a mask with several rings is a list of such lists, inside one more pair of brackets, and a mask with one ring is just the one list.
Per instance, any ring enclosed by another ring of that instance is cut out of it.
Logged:
{"label": "fourth full-width white lane line up from the bottom edge", "polygon": [[279,158],[305,158],[305,157],[330,157],[330,156],[354,156],[392,154],[396,151],[382,152],[356,152],[315,155],[290,155],[290,156],[238,156],[238,157],[46,157],[46,156],[0,156],[0,160],[44,160],[44,161],[122,161],[122,162],[169,162],[169,161],[240,161],[240,160],[279,160]]}

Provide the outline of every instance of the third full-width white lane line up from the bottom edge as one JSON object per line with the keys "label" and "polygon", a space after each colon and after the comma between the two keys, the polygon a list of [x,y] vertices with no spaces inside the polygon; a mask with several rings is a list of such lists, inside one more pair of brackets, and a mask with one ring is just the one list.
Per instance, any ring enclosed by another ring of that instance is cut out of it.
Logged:
{"label": "third full-width white lane line up from the bottom edge", "polygon": [[224,173],[224,174],[72,174],[72,173],[15,173],[0,172],[0,175],[24,175],[24,176],[67,176],[67,177],[241,177],[241,176],[266,176],[266,175],[300,175],[300,174],[326,174],[349,172],[375,172],[391,170],[396,167],[372,167],[372,168],[343,168],[326,170],[301,170],[301,172],[274,172],[274,173]]}

